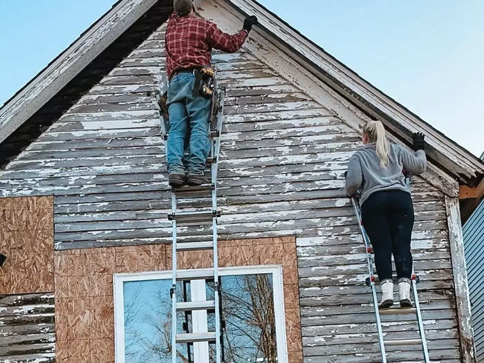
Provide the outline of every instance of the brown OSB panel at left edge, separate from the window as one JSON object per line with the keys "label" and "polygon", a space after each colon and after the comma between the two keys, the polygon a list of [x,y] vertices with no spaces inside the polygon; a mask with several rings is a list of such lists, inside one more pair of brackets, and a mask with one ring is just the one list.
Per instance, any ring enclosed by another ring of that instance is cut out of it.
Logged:
{"label": "brown OSB panel at left edge, separate from the window", "polygon": [[52,292],[53,197],[0,198],[0,295]]}

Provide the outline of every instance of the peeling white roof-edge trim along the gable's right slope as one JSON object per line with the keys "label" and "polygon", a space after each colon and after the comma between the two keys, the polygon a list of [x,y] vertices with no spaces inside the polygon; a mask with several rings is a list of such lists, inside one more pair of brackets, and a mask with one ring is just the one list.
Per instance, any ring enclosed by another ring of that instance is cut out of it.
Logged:
{"label": "peeling white roof-edge trim along the gable's right slope", "polygon": [[266,7],[254,0],[224,1],[244,15],[249,15],[249,13],[252,15],[255,11],[262,30],[268,32],[271,37],[288,44],[293,52],[319,71],[319,77],[324,82],[337,88],[339,93],[353,100],[369,115],[382,119],[407,142],[410,142],[412,132],[425,133],[429,153],[433,153],[434,159],[438,160],[461,183],[478,183],[483,178],[484,162],[477,156],[382,93]]}

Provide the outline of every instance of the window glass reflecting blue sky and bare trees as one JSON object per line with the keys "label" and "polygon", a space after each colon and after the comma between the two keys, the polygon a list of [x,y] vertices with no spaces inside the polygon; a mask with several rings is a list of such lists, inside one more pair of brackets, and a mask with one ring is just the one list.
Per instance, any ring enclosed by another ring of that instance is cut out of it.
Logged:
{"label": "window glass reflecting blue sky and bare trees", "polygon": [[[124,282],[124,355],[126,363],[171,363],[171,280]],[[207,299],[214,299],[213,281],[206,283]],[[178,283],[177,291],[183,291]],[[190,301],[189,283],[185,301]],[[183,301],[178,293],[178,300]],[[223,358],[226,363],[277,362],[276,322],[272,274],[221,277]],[[178,313],[178,333],[192,332],[191,316]],[[209,312],[208,330],[215,330]],[[183,323],[186,322],[185,327]],[[192,346],[177,344],[177,362],[194,362]],[[215,362],[210,344],[210,363]],[[203,362],[205,363],[205,362]]]}

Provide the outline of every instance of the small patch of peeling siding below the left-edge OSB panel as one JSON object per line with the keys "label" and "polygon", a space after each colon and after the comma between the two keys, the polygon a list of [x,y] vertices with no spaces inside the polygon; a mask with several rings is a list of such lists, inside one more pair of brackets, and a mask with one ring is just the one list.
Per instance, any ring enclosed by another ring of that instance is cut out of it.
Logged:
{"label": "small patch of peeling siding below the left-edge OSB panel", "polygon": [[0,295],[0,362],[55,362],[54,294]]}

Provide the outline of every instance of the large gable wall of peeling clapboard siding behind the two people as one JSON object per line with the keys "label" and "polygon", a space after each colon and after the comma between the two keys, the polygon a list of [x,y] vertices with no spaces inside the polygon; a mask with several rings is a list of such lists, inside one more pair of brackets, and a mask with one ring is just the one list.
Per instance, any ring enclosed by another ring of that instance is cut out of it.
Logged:
{"label": "large gable wall of peeling clapboard siding behind the two people", "polygon": [[[0,173],[2,196],[54,194],[55,248],[168,242],[169,190],[155,97],[162,27]],[[379,362],[364,286],[364,254],[343,173],[360,135],[248,52],[215,53],[227,87],[218,182],[221,239],[299,237],[305,362]],[[348,111],[351,112],[351,111]],[[431,358],[459,362],[443,194],[413,184],[416,269]],[[203,198],[181,201],[208,206]],[[210,238],[201,227],[180,237]],[[386,324],[416,334],[413,317]],[[342,322],[344,324],[342,324]],[[398,333],[401,332],[401,333]],[[418,348],[390,353],[415,362]]]}

